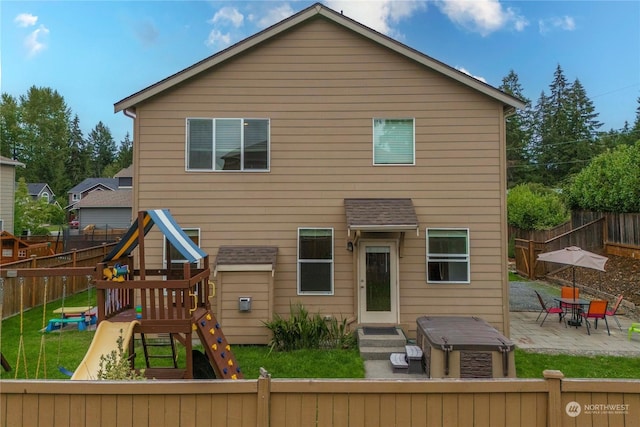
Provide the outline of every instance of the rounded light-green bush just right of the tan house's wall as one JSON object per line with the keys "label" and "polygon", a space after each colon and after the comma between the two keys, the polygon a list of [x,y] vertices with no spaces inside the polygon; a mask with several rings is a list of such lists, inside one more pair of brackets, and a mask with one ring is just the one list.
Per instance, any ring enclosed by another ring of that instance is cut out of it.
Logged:
{"label": "rounded light-green bush just right of the tan house's wall", "polygon": [[570,212],[560,195],[541,184],[520,184],[507,196],[509,225],[523,230],[547,230],[567,222]]}

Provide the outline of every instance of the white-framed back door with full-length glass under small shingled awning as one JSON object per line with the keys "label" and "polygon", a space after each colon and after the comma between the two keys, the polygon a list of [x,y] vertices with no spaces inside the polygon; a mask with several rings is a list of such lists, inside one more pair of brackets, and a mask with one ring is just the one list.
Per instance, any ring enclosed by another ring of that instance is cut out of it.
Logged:
{"label": "white-framed back door with full-length glass under small shingled awning", "polygon": [[398,322],[398,258],[395,241],[360,241],[360,323]]}

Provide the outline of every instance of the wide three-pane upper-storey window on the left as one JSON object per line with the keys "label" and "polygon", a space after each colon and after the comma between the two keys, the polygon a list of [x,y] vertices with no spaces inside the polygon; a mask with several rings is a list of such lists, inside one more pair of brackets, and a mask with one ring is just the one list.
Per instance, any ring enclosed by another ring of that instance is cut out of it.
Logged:
{"label": "wide three-pane upper-storey window on the left", "polygon": [[187,170],[268,171],[268,119],[187,119]]}

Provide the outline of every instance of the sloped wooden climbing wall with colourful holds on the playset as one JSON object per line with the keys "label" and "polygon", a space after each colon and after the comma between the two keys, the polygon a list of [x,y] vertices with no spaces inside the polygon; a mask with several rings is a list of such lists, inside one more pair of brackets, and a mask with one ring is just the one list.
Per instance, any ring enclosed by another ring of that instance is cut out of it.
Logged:
{"label": "sloped wooden climbing wall with colourful holds on the playset", "polygon": [[217,378],[231,380],[244,378],[220,324],[210,311],[200,316],[193,324],[193,328],[198,331],[207,356],[213,363]]}

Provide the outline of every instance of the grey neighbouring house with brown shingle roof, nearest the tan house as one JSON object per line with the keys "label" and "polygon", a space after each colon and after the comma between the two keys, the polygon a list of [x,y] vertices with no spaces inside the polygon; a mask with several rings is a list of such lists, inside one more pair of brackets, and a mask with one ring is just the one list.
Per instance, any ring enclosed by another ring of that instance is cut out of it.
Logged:
{"label": "grey neighbouring house with brown shingle roof, nearest the tan house", "polygon": [[131,225],[131,190],[93,191],[75,205],[79,228],[126,229]]}

